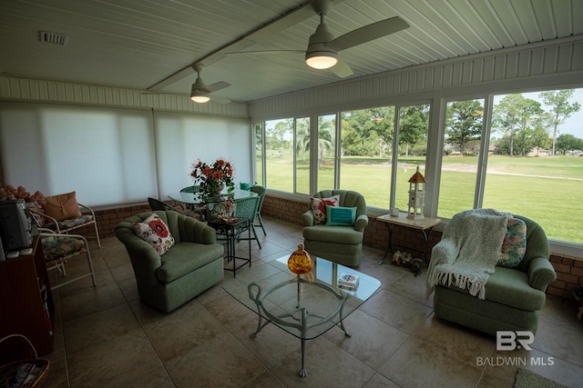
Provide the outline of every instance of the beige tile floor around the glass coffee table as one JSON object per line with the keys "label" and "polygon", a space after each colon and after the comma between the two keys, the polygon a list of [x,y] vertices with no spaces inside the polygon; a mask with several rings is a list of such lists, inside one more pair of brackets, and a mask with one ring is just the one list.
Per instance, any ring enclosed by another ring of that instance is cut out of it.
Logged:
{"label": "beige tile floor around the glass coffee table", "polygon": [[[302,243],[301,227],[264,221],[262,249],[252,244],[251,269],[238,276],[252,277]],[[512,360],[527,360],[527,368],[568,386],[583,381],[576,307],[547,301],[533,350],[496,352],[496,338],[436,318],[424,297],[424,274],[378,265],[379,250],[365,247],[359,270],[382,288],[346,318],[352,337],[333,328],[307,342],[305,378],[298,376],[300,341],[273,325],[251,339],[257,316],[220,285],[161,313],[140,302],[128,255],[115,237],[103,239],[100,249],[95,244],[92,254],[97,286],[87,279],[54,293],[55,352],[46,355],[46,386],[512,387]],[[67,264],[68,274],[81,265],[87,264]],[[531,357],[546,364],[533,365]]]}

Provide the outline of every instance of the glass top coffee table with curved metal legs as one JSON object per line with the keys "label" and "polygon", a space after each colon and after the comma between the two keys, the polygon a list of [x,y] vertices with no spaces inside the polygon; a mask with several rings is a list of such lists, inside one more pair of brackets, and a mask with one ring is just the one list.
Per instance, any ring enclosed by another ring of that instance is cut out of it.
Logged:
{"label": "glass top coffee table with curved metal legs", "polygon": [[[265,325],[273,323],[302,341],[300,376],[305,377],[305,341],[336,325],[350,336],[343,319],[366,302],[379,289],[381,282],[373,276],[319,257],[314,258],[311,282],[308,275],[293,274],[288,268],[288,259],[289,255],[264,264],[269,267],[261,270],[258,267],[256,278],[250,271],[249,276],[229,279],[222,288],[259,315],[257,330],[251,333],[251,338],[255,338]],[[341,274],[356,275],[358,285],[353,288],[339,286]]]}

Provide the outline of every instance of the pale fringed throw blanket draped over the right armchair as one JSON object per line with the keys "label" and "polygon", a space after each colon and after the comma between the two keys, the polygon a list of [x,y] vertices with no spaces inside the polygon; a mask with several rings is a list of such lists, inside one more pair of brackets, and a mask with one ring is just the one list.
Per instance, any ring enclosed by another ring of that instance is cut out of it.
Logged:
{"label": "pale fringed throw blanket draped over the right armchair", "polygon": [[427,296],[434,292],[436,284],[453,284],[485,299],[484,286],[500,259],[510,217],[512,214],[495,209],[474,209],[455,214],[445,227],[442,241],[432,250],[427,272]]}

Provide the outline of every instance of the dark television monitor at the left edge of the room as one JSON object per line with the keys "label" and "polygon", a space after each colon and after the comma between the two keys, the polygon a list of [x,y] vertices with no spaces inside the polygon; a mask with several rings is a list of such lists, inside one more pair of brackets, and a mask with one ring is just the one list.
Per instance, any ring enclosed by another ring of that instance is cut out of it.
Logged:
{"label": "dark television monitor at the left edge of the room", "polygon": [[24,200],[0,201],[0,238],[5,253],[32,245],[32,222]]}

